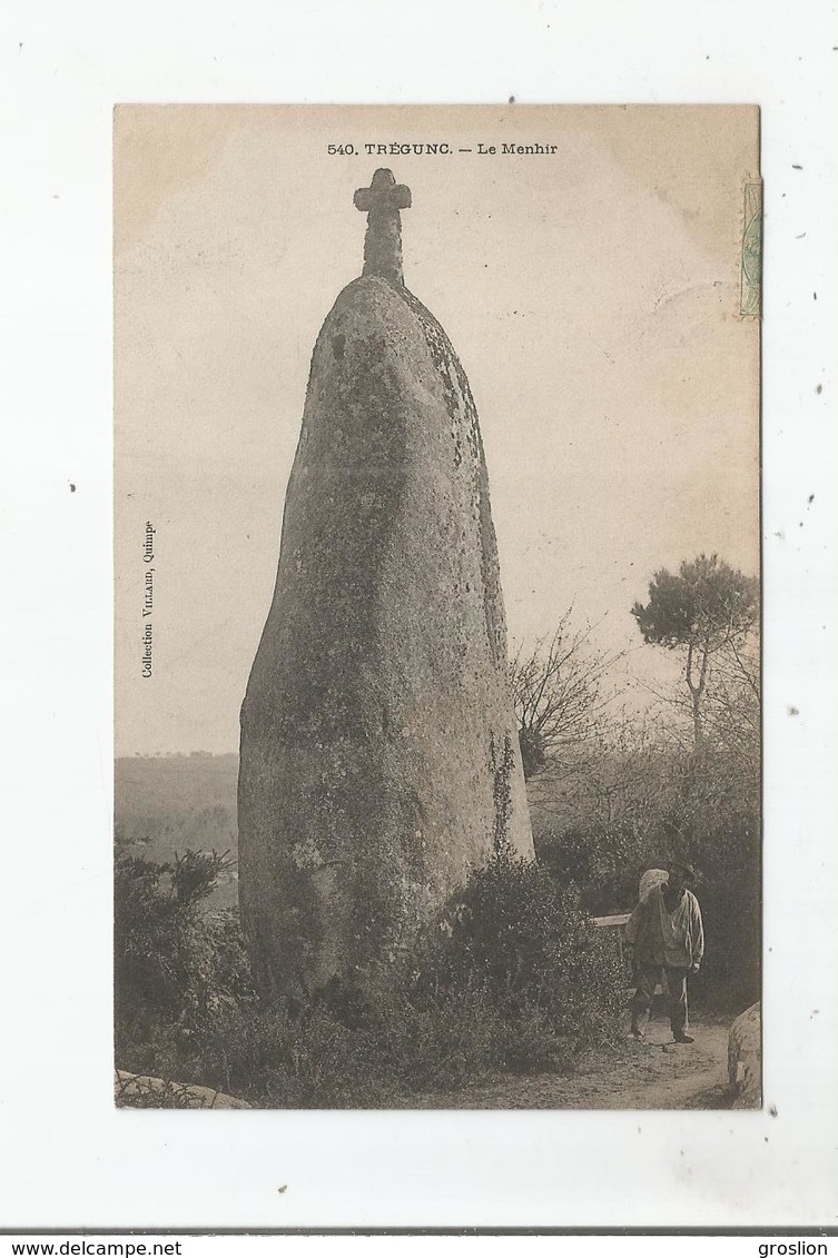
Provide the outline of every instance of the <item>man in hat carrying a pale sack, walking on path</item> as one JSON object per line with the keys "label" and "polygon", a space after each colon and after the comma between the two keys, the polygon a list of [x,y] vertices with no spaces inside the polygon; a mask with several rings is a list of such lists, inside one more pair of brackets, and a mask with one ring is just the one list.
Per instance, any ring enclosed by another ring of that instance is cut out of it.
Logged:
{"label": "man in hat carrying a pale sack, walking on path", "polygon": [[672,860],[668,881],[645,896],[625,923],[625,950],[634,960],[637,991],[632,1000],[633,1039],[645,1037],[654,989],[666,970],[669,1021],[676,1044],[692,1044],[687,1033],[687,975],[698,974],[705,955],[705,930],[698,901],[687,884],[696,881],[686,863]]}

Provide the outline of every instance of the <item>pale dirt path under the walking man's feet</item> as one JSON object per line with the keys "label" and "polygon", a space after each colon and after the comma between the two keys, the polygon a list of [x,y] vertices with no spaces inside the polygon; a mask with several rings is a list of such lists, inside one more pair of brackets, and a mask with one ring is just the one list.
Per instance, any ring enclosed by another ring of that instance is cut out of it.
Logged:
{"label": "pale dirt path under the walking man's feet", "polygon": [[452,1093],[405,1099],[416,1110],[726,1110],[727,1025],[697,1016],[695,1044],[674,1044],[657,1018],[645,1044],[625,1040],[573,1074],[503,1076]]}

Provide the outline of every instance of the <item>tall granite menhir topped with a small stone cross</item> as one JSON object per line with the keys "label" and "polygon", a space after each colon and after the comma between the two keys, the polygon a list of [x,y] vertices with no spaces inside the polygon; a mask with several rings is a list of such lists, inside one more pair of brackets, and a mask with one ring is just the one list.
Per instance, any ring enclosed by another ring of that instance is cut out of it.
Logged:
{"label": "tall granite menhir topped with a small stone cross", "polygon": [[362,979],[498,847],[532,855],[477,411],[377,170],[315,346],[242,708],[240,896],[268,996]]}

